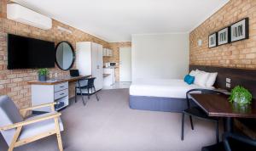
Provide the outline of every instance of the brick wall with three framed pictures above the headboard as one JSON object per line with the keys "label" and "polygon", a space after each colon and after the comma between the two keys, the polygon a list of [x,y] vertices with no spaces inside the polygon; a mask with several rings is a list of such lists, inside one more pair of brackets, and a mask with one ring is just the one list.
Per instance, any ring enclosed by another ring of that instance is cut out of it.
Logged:
{"label": "brick wall with three framed pictures above the headboard", "polygon": [[[208,48],[208,35],[237,20],[249,17],[249,39]],[[190,64],[256,69],[256,1],[230,0],[209,19],[191,31]],[[202,46],[197,41],[202,40]]]}

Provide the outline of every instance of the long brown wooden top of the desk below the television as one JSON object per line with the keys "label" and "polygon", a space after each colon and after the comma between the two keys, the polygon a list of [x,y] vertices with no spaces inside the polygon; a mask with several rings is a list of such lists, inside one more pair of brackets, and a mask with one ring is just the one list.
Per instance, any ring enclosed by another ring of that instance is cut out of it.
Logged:
{"label": "long brown wooden top of the desk below the television", "polygon": [[27,83],[30,85],[55,85],[59,84],[62,82],[73,82],[73,81],[78,81],[80,79],[88,78],[89,76],[63,76],[63,77],[58,77],[57,79],[53,80],[48,80],[48,81],[28,81]]}

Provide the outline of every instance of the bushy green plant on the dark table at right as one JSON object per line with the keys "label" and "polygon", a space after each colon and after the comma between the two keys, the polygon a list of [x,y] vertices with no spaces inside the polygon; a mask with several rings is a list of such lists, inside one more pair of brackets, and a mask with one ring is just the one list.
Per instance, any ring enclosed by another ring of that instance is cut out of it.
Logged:
{"label": "bushy green plant on the dark table at right", "polygon": [[253,96],[246,88],[236,86],[232,89],[229,99],[231,103],[251,103]]}

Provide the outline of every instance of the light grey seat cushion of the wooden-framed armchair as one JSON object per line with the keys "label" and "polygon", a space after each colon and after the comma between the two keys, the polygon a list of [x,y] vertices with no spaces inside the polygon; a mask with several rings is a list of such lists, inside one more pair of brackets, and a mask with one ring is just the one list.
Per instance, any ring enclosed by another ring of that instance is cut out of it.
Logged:
{"label": "light grey seat cushion of the wooden-framed armchair", "polygon": [[[30,118],[27,118],[26,120],[32,120],[33,118],[38,118],[38,117],[42,117],[45,115],[51,115],[51,114],[55,114],[55,112],[46,113],[43,115],[32,116]],[[64,128],[63,128],[61,118],[58,118],[58,120],[59,120],[59,125],[60,125],[60,131],[63,131]],[[54,119],[39,121],[37,123],[23,126],[22,131],[20,132],[19,140],[26,139],[28,137],[33,137],[38,134],[41,134],[41,133],[44,133],[47,131],[51,131],[51,130],[55,130],[55,120]]]}

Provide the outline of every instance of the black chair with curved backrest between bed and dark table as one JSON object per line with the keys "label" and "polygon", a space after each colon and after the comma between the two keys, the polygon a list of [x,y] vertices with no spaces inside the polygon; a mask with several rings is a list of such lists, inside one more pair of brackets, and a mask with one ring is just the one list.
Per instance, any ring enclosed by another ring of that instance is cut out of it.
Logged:
{"label": "black chair with curved backrest between bed and dark table", "polygon": [[224,94],[224,92],[218,92],[215,90],[210,90],[210,89],[191,89],[186,93],[186,99],[187,99],[187,105],[188,109],[184,109],[182,113],[182,134],[181,134],[181,140],[183,140],[184,136],[184,116],[189,115],[189,120],[191,124],[191,129],[194,130],[194,124],[192,120],[192,116],[198,119],[202,120],[211,120],[216,123],[216,141],[217,143],[219,142],[219,137],[218,137],[218,120],[219,118],[216,117],[210,117],[206,114],[205,111],[203,111],[199,106],[191,106],[189,101],[189,93],[191,92],[199,92],[199,93],[204,93],[204,94]]}

